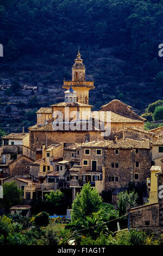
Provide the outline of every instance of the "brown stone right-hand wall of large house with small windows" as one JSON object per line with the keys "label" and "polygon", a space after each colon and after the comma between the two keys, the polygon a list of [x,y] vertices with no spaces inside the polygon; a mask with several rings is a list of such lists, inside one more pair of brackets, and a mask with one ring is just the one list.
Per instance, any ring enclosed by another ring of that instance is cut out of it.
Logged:
{"label": "brown stone right-hand wall of large house with small windows", "polygon": [[[114,149],[106,149],[105,190],[127,185],[129,181],[146,182],[150,176],[151,161],[150,149],[139,149],[139,153],[135,153],[135,149],[119,149],[118,154]],[[136,162],[140,162],[139,167],[135,166]],[[112,168],[111,163],[118,163],[118,168]],[[135,174],[138,174],[138,179],[135,179]],[[114,177],[114,181],[109,181],[109,177]]]}

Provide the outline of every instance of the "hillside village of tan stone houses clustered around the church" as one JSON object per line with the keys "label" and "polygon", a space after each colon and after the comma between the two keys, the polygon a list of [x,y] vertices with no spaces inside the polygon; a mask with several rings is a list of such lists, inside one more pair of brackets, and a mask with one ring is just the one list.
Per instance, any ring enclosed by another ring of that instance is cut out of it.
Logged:
{"label": "hillside village of tan stone houses clustered around the church", "polygon": [[[38,109],[37,124],[29,127],[28,133],[23,130],[2,137],[0,185],[15,181],[23,190],[22,205],[14,206],[11,211],[23,206],[30,208],[32,200],[44,199],[45,194],[61,188],[71,189],[73,201],[88,182],[99,194],[109,191],[110,203],[116,208],[117,194],[129,182],[134,182],[145,184],[145,189],[142,203],[128,209],[130,227],[161,231],[163,203],[158,192],[163,185],[163,126],[144,130],[146,119],[116,99],[101,106],[99,111],[91,111],[89,93],[95,86],[93,80],[85,80],[85,71],[78,51],[72,80],[64,80],[62,86],[65,101]],[[67,108],[76,115],[67,116]],[[59,121],[61,128],[55,130],[58,112],[63,119]],[[84,118],[83,112],[87,113]],[[102,112],[103,127],[98,119]],[[110,133],[105,134],[108,113]],[[72,121],[74,129],[69,126],[67,129],[66,124]],[[70,212],[67,209],[67,214]]]}

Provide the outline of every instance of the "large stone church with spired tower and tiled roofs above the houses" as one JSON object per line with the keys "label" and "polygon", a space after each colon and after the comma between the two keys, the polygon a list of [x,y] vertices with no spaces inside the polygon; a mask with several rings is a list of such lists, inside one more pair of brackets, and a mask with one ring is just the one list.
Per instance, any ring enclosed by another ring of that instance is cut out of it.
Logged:
{"label": "large stone church with spired tower and tiled roofs above the houses", "polygon": [[[60,142],[80,143],[112,139],[110,132],[133,126],[143,130],[146,119],[120,100],[113,100],[101,107],[100,112],[104,114],[102,122],[99,119],[101,113],[91,111],[89,90],[95,87],[93,81],[85,80],[85,66],[80,52],[72,67],[72,81],[64,80],[62,88],[67,89],[64,102],[40,108],[36,112],[37,125],[29,128],[30,148],[36,150],[42,144]],[[59,113],[62,113],[61,117]],[[107,119],[108,115],[109,119]],[[90,124],[92,126],[89,126]],[[109,131],[106,134],[107,125]]]}

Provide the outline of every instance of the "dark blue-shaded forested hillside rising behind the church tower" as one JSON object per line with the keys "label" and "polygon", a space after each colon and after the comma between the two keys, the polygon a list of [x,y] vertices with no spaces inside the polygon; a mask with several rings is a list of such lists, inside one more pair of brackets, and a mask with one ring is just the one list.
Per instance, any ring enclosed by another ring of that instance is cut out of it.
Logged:
{"label": "dark blue-shaded forested hillside rising behind the church tower", "polygon": [[140,114],[162,99],[162,0],[1,0],[0,17],[0,78],[17,82],[1,102],[21,97],[20,82],[43,84],[39,90],[46,96],[28,99],[33,105],[22,103],[24,109],[59,101],[61,91],[52,95],[48,88],[71,78],[78,45],[87,79],[95,80],[95,109],[116,98]]}

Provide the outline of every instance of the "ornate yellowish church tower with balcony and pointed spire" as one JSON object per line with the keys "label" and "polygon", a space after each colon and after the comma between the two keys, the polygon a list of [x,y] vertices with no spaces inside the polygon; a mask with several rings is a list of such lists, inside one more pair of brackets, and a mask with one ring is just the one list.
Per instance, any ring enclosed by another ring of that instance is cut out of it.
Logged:
{"label": "ornate yellowish church tower with balcony and pointed spire", "polygon": [[72,81],[65,81],[62,88],[72,87],[77,92],[77,102],[89,104],[89,90],[94,89],[94,81],[85,80],[85,65],[78,51],[77,58],[72,66]]}

